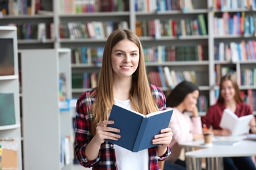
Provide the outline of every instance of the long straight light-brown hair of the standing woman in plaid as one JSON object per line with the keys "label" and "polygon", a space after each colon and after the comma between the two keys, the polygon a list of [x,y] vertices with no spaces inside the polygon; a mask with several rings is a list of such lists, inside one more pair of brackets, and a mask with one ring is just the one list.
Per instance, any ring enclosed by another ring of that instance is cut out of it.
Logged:
{"label": "long straight light-brown hair of the standing woman in plaid", "polygon": [[108,120],[108,113],[114,104],[113,94],[113,69],[111,63],[112,48],[119,41],[127,39],[134,42],[139,48],[139,65],[135,73],[133,73],[133,86],[129,92],[131,107],[144,115],[158,110],[156,101],[152,96],[148,79],[146,75],[146,66],[144,63],[144,55],[142,45],[135,33],[127,29],[117,29],[110,34],[106,41],[106,46],[103,52],[102,67],[98,80],[98,87],[95,88],[96,98],[93,103],[94,120],[92,122],[91,131],[95,135],[98,122]]}

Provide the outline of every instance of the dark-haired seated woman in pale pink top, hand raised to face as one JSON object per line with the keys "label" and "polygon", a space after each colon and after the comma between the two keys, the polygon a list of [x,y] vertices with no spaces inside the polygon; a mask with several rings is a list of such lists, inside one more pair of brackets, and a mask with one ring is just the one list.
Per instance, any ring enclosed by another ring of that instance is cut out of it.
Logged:
{"label": "dark-haired seated woman in pale pink top, hand raised to face", "polygon": [[[167,108],[173,108],[173,116],[169,127],[173,130],[173,140],[171,141],[171,155],[168,161],[186,167],[185,161],[179,160],[182,147],[179,142],[203,139],[201,118],[198,116],[196,103],[200,91],[198,86],[192,82],[183,81],[171,91],[167,97]],[[192,113],[192,118],[188,112]]]}

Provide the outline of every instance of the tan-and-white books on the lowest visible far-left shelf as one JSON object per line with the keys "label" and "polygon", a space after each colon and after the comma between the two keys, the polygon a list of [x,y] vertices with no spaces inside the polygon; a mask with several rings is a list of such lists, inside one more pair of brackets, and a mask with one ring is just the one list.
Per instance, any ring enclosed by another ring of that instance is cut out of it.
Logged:
{"label": "tan-and-white books on the lowest visible far-left shelf", "polygon": [[0,169],[18,169],[18,138],[0,138]]}

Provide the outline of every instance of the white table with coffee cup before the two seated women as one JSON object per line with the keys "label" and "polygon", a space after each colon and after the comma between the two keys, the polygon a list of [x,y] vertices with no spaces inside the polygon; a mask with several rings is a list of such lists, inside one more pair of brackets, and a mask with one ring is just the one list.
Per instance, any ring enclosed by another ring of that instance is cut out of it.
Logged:
{"label": "white table with coffee cup before the two seated women", "polygon": [[[185,148],[187,169],[202,169],[201,158],[206,158],[207,169],[223,169],[223,157],[256,156],[256,142],[241,140],[236,145],[215,144],[204,146],[203,140],[182,142]],[[195,150],[194,148],[200,148]]]}

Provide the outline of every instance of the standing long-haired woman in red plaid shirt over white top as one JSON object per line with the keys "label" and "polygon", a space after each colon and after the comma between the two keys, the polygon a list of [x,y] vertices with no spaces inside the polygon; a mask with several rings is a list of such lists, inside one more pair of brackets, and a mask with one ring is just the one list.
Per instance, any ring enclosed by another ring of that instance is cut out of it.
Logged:
{"label": "standing long-haired woman in red plaid shirt over white top", "polygon": [[[108,120],[114,103],[141,114],[166,109],[160,88],[148,84],[142,45],[135,33],[127,29],[113,31],[103,52],[98,86],[77,99],[75,115],[75,156],[84,167],[93,169],[160,169],[171,150],[170,127],[154,135],[153,144],[131,152],[106,139],[118,140],[119,129]],[[117,133],[117,134],[116,134]]]}

